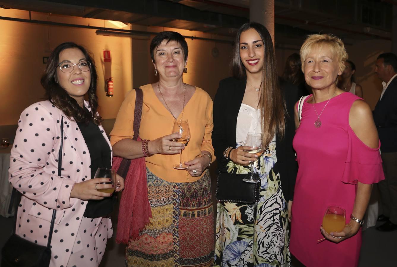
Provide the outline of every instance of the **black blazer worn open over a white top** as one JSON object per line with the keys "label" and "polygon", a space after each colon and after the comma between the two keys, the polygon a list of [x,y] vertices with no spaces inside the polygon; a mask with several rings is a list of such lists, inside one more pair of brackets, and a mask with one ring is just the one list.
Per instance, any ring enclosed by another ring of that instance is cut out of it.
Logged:
{"label": "black blazer worn open over a white top", "polygon": [[[237,115],[245,93],[245,79],[226,78],[219,83],[214,99],[214,130],[212,131],[212,145],[218,162],[218,169],[226,172],[228,160],[223,152],[229,146],[235,148]],[[280,179],[285,200],[292,200],[297,176],[298,165],[292,148],[295,134],[294,111],[295,102],[299,99],[296,86],[281,81],[285,103],[289,116],[286,117],[285,136],[281,139],[276,135],[277,162],[280,165]]]}

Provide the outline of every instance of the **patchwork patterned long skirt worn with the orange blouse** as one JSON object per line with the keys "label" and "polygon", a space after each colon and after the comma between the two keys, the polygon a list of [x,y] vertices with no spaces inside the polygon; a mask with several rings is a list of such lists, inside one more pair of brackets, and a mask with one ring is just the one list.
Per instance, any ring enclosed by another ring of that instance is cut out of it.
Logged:
{"label": "patchwork patterned long skirt worn with the orange blouse", "polygon": [[126,266],[212,266],[214,214],[209,171],[195,182],[167,182],[146,169],[152,218],[126,248]]}

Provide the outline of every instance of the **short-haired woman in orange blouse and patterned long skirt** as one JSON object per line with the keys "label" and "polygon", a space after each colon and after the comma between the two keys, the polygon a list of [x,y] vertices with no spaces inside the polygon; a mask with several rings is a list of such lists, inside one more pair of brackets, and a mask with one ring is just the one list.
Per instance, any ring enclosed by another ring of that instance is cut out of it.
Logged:
{"label": "short-haired woman in orange blouse and patterned long skirt", "polygon": [[[150,44],[156,83],[141,86],[142,119],[133,138],[135,90],[125,96],[110,142],[113,154],[127,159],[145,156],[152,218],[139,238],[130,239],[127,266],[211,266],[214,255],[213,210],[208,166],[212,148],[212,100],[201,88],[183,83],[187,43],[179,33],[164,31]],[[173,142],[175,120],[187,119],[187,145]],[[146,141],[148,140],[148,141]],[[173,169],[182,162],[186,170]]]}

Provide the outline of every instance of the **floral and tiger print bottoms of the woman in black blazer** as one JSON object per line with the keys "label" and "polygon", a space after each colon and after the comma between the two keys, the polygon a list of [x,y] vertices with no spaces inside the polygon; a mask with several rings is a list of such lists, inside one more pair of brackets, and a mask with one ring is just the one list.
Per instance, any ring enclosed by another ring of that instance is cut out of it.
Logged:
{"label": "floral and tiger print bottoms of the woman in black blazer", "polygon": [[[251,165],[232,161],[227,167],[229,173],[251,171]],[[259,202],[218,202],[214,266],[290,266],[288,205],[281,190],[275,140],[254,163],[253,171],[261,180]]]}

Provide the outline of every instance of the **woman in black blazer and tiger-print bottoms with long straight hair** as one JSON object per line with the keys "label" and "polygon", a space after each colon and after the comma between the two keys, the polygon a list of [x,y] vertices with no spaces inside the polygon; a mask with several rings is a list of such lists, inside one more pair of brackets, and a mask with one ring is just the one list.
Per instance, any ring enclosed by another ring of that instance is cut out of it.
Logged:
{"label": "woman in black blazer and tiger-print bottoms with long straight hair", "polygon": [[[289,266],[288,204],[297,165],[287,111],[293,113],[296,97],[280,90],[272,38],[259,23],[240,27],[232,68],[214,100],[215,155],[220,172],[257,173],[261,198],[255,204],[218,202],[214,265]],[[263,133],[259,157],[245,151],[248,132]]]}

